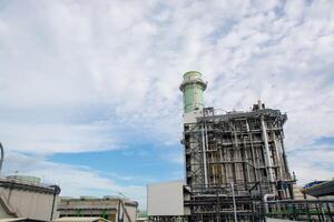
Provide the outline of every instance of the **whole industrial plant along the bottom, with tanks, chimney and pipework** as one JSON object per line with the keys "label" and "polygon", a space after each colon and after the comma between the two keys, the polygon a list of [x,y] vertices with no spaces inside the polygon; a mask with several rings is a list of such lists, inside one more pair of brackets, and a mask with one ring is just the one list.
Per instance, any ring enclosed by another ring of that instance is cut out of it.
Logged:
{"label": "whole industrial plant along the bottom, with tanks, chimney and pipework", "polygon": [[333,222],[334,180],[296,186],[284,145],[286,113],[261,100],[248,111],[222,113],[205,107],[206,88],[202,73],[184,74],[185,178],[147,185],[147,218],[121,193],[60,196],[56,184],[8,175],[0,178],[0,222]]}

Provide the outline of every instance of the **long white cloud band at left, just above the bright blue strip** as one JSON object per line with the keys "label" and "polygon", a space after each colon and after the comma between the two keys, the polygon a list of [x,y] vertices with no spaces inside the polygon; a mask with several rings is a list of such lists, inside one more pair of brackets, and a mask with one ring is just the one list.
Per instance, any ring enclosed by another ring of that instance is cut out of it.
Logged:
{"label": "long white cloud band at left, just above the bright blue strip", "polygon": [[[85,152],[120,149],[110,127],[95,124],[2,124],[2,143],[9,150],[38,153]],[[18,138],[20,140],[18,140]]]}

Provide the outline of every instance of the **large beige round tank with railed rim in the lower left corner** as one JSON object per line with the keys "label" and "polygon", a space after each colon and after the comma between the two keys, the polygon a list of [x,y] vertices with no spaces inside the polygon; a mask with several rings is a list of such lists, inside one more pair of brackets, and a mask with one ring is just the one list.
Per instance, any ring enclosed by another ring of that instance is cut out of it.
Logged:
{"label": "large beige round tank with railed rim in the lower left corner", "polygon": [[0,178],[0,219],[51,221],[58,216],[59,193],[59,186],[42,184],[39,178]]}

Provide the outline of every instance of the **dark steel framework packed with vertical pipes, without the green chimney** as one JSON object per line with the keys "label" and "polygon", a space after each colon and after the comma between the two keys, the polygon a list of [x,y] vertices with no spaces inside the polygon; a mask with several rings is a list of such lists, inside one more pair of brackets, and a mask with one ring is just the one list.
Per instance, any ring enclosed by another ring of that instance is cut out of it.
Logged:
{"label": "dark steel framework packed with vertical pipes, without the green chimney", "polygon": [[219,115],[205,108],[196,122],[184,124],[186,181],[193,193],[186,204],[196,216],[191,221],[234,219],[232,196],[238,218],[257,221],[263,196],[293,199],[295,180],[283,142],[286,120],[279,110],[259,103],[249,112]]}

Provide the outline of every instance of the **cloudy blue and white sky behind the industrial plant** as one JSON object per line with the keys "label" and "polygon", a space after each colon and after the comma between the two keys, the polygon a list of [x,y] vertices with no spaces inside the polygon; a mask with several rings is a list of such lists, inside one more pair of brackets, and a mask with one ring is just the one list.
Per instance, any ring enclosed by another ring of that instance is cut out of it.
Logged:
{"label": "cloudy blue and white sky behind the industrial plant", "polygon": [[148,183],[184,176],[189,70],[208,107],[287,113],[298,184],[333,178],[333,0],[0,0],[2,174],[145,209]]}

